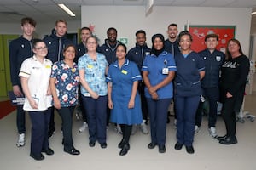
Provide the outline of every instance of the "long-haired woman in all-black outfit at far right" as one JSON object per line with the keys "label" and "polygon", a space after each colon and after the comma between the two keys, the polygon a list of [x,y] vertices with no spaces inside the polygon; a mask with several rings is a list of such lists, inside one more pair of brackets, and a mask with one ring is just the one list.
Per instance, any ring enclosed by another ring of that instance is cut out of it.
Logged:
{"label": "long-haired woman in all-black outfit at far right", "polygon": [[227,43],[226,59],[221,67],[221,115],[226,134],[217,137],[219,144],[237,144],[236,109],[241,109],[249,71],[250,61],[243,54],[240,42],[237,39],[230,39]]}

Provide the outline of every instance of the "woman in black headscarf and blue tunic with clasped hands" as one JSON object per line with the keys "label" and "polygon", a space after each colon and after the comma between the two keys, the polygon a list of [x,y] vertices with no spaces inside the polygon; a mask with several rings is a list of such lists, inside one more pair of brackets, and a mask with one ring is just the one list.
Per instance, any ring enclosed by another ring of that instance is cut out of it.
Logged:
{"label": "woman in black headscarf and blue tunic with clasped hands", "polygon": [[166,152],[166,119],[173,97],[172,79],[176,65],[172,54],[165,51],[165,39],[161,34],[152,37],[152,50],[143,63],[143,81],[148,103],[151,143],[149,149],[159,146],[159,152]]}

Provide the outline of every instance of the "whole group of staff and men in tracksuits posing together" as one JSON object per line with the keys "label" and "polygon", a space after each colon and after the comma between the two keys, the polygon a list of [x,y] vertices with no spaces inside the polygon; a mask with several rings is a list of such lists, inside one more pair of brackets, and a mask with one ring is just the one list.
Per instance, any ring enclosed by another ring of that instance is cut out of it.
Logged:
{"label": "whole group of staff and men in tracksuits posing together", "polygon": [[[174,102],[177,120],[177,143],[189,154],[195,152],[195,130],[201,126],[202,98],[209,107],[209,133],[220,144],[236,144],[236,109],[241,107],[249,60],[241,44],[230,39],[226,54],[216,49],[218,35],[205,37],[207,48],[199,53],[191,49],[189,31],[178,34],[177,24],[167,28],[168,38],[154,34],[152,48],[146,43],[146,32],[136,32],[136,47],[127,52],[117,40],[117,30],[108,28],[105,43],[99,46],[90,28],[81,29],[82,42],[74,45],[67,39],[67,22],[57,20],[55,31],[44,40],[33,39],[36,22],[21,20],[23,35],[9,45],[11,81],[16,96],[25,96],[17,105],[17,146],[25,144],[25,111],[32,122],[30,156],[43,160],[53,155],[48,139],[55,132],[54,112],[61,116],[64,151],[79,155],[73,146],[73,111],[80,105],[83,132],[88,126],[89,146],[96,141],[107,148],[108,121],[122,133],[120,156],[130,150],[129,140],[137,125],[148,134],[148,149],[158,145],[166,152],[166,120],[169,105]],[[219,74],[221,72],[221,77]],[[223,103],[222,116],[227,133],[216,133],[217,103]]]}

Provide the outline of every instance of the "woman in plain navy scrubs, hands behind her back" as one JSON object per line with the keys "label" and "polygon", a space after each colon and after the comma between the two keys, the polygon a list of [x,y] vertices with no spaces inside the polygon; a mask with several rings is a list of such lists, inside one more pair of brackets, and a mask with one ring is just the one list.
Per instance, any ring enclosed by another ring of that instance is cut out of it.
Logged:
{"label": "woman in plain navy scrubs, hands behind her back", "polygon": [[192,36],[182,31],[178,36],[181,54],[175,56],[177,73],[175,77],[175,105],[177,113],[176,150],[183,145],[189,154],[194,153],[193,139],[195,112],[201,95],[201,79],[205,75],[204,61],[199,54],[191,50]]}

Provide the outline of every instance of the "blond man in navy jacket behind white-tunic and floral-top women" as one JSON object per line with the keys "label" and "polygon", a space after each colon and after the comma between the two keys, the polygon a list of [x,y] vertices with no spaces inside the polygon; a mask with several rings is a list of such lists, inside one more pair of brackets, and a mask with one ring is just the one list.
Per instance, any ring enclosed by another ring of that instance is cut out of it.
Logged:
{"label": "blond man in navy jacket behind white-tunic and floral-top women", "polygon": [[[44,42],[48,48],[47,59],[50,59],[53,63],[60,61],[63,58],[63,49],[68,44],[73,44],[69,39],[67,39],[67,21],[66,20],[56,20],[55,31],[48,37],[44,37]],[[50,122],[49,122],[49,133],[48,136],[51,137],[55,132],[55,119],[54,119],[54,109],[52,109]]]}

